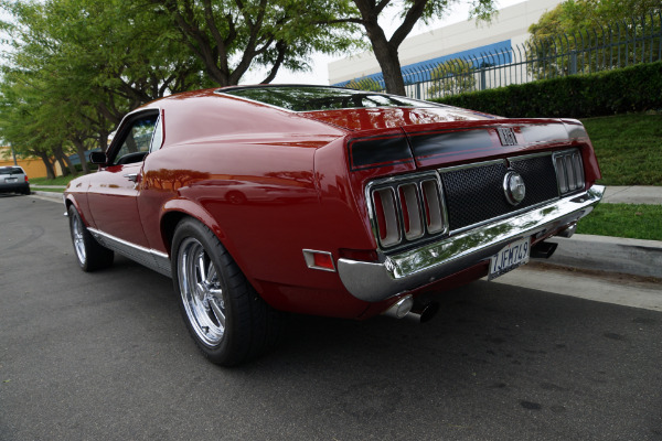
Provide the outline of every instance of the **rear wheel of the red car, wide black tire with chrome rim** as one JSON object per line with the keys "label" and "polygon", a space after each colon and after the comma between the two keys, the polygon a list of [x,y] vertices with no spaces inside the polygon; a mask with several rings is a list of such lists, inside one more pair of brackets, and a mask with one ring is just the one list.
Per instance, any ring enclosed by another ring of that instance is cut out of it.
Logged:
{"label": "rear wheel of the red car, wide black tire with chrome rim", "polygon": [[193,218],[172,239],[172,280],[191,336],[213,363],[234,366],[279,340],[282,318],[255,291],[218,238]]}

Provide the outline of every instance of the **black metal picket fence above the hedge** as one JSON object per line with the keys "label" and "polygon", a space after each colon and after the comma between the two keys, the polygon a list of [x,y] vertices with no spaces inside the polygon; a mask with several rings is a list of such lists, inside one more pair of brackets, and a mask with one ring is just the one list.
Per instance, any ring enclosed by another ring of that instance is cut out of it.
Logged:
{"label": "black metal picket fence above the hedge", "polygon": [[[428,99],[656,61],[662,61],[662,11],[576,34],[404,67],[403,77],[407,96]],[[385,89],[382,74],[344,86]]]}

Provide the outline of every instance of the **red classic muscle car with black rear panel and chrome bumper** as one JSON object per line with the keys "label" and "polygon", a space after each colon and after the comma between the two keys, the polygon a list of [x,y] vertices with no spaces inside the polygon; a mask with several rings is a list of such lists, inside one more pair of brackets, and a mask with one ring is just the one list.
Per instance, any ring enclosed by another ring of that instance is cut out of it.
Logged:
{"label": "red classic muscle car with black rear panel and chrome bumper", "polygon": [[271,346],[281,312],[425,320],[420,292],[549,256],[604,193],[577,120],[327,86],[162,98],[92,161],[64,196],[81,268],[119,252],[171,277],[222,365]]}

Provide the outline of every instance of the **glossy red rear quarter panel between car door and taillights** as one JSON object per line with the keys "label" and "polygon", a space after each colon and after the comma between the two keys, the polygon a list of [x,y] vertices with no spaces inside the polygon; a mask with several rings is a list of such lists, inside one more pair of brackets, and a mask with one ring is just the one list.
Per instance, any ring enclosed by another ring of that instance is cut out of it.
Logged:
{"label": "glossy red rear quarter panel between car door and taillights", "polygon": [[[328,250],[338,258],[339,247],[357,236],[365,241],[349,198],[340,205],[353,213],[350,222],[320,202],[316,151],[338,140],[342,147],[346,131],[260,106],[247,120],[233,107],[231,100],[229,109],[214,115],[217,108],[164,106],[166,143],[145,161],[138,207],[150,247],[170,252],[163,222],[189,215],[216,234],[273,306],[360,315],[364,302],[346,293],[337,273],[309,269],[302,252]],[[338,163],[325,164],[324,180],[343,183],[344,157],[329,160]]]}

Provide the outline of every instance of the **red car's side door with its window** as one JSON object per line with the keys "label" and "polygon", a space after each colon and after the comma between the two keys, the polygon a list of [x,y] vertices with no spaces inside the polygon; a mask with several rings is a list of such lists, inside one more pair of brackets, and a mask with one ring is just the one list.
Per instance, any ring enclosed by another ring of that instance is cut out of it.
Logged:
{"label": "red car's side door with its window", "polygon": [[131,114],[113,140],[107,163],[92,178],[88,204],[96,228],[127,245],[148,247],[138,214],[142,164],[159,127],[159,110]]}

